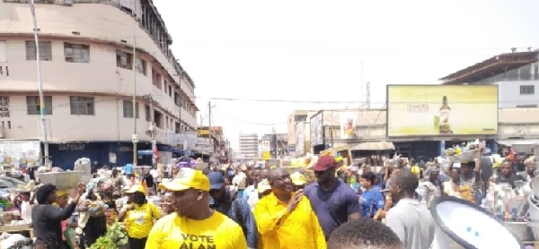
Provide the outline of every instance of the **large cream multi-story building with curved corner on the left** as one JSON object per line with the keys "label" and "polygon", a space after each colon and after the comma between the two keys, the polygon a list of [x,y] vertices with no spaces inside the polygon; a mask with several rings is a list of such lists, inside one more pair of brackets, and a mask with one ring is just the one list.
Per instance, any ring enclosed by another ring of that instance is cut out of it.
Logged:
{"label": "large cream multi-story building with curved corner on the left", "polygon": [[[196,131],[195,85],[172,55],[171,35],[151,0],[36,1],[35,12],[53,166],[71,167],[82,157],[130,163],[134,133],[138,150],[151,149],[154,134],[160,153],[181,153],[164,137]],[[3,139],[39,141],[37,56],[27,1],[0,0],[0,27]],[[148,162],[147,152],[138,154],[139,164]]]}

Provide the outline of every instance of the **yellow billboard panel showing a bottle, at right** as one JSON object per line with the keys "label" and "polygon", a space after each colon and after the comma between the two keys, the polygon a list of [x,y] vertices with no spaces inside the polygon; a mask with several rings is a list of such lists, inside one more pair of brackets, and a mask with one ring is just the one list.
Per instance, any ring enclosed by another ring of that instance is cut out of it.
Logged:
{"label": "yellow billboard panel showing a bottle, at right", "polygon": [[388,85],[388,137],[498,134],[498,85]]}

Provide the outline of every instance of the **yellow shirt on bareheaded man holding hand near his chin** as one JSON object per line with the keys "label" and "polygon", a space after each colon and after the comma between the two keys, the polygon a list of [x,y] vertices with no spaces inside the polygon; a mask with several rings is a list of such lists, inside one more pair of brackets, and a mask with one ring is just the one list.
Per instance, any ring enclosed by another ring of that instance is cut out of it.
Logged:
{"label": "yellow shirt on bareheaded man holding hand near his chin", "polygon": [[270,193],[254,206],[254,219],[264,249],[326,249],[325,236],[307,197],[288,213],[287,204]]}

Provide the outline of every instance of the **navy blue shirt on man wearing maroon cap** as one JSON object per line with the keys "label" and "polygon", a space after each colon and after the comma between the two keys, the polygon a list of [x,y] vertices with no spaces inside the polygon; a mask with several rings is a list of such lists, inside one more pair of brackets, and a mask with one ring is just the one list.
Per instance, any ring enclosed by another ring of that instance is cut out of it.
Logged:
{"label": "navy blue shirt on man wearing maroon cap", "polygon": [[341,181],[337,181],[337,184],[327,191],[317,182],[307,185],[304,194],[311,202],[326,240],[335,228],[349,220],[350,214],[361,212],[358,194]]}

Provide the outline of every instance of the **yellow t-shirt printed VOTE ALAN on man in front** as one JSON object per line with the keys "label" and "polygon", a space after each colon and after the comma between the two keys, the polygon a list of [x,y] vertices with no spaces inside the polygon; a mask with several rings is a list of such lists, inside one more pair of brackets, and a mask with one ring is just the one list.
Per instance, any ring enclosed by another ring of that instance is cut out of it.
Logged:
{"label": "yellow t-shirt printed VOTE ALAN on man in front", "polygon": [[179,217],[174,212],[155,223],[146,248],[246,249],[247,242],[242,228],[217,211],[203,220]]}

